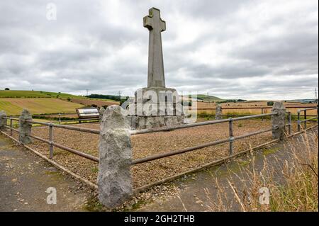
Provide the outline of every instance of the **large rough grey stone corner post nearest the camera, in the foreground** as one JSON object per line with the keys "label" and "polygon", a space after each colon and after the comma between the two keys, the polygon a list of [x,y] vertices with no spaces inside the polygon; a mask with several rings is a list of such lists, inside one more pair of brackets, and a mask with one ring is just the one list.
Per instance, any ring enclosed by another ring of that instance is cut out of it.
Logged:
{"label": "large rough grey stone corner post nearest the camera, in the foreground", "polygon": [[130,124],[121,106],[109,106],[103,114],[99,142],[99,200],[108,208],[132,196],[132,145]]}

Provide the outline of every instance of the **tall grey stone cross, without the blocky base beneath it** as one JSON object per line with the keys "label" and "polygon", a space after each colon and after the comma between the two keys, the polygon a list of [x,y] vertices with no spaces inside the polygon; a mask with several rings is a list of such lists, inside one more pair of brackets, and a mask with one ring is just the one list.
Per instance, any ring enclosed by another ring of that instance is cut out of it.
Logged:
{"label": "tall grey stone cross, without the blocky base beneath it", "polygon": [[147,87],[165,87],[161,32],[166,30],[159,9],[152,8],[143,18],[144,27],[150,30],[148,46]]}

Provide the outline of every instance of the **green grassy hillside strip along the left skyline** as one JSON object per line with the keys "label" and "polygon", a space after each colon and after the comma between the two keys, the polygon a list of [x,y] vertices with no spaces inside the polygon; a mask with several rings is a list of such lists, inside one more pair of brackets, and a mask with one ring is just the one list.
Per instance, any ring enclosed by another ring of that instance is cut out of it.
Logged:
{"label": "green grassy hillside strip along the left skyline", "polygon": [[0,90],[0,98],[86,98],[72,94],[63,94],[47,91],[26,91],[26,90]]}

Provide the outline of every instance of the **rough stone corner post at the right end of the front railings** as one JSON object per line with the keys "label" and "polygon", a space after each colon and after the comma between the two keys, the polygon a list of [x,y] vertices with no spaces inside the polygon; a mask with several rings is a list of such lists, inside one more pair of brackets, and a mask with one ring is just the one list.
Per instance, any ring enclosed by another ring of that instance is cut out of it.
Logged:
{"label": "rough stone corner post at the right end of the front railings", "polygon": [[277,113],[272,115],[272,138],[284,140],[286,133],[286,108],[284,103],[275,102],[272,112]]}

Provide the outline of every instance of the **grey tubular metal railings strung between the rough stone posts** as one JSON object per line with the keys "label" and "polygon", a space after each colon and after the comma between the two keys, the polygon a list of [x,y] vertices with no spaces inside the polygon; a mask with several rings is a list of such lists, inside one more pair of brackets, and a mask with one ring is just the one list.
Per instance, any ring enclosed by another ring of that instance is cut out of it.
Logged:
{"label": "grey tubular metal railings strung between the rough stone posts", "polygon": [[[314,110],[317,109],[317,117],[314,118],[306,118],[307,114],[306,111],[308,110]],[[301,118],[301,112],[304,112],[304,120],[300,120]],[[186,153],[186,152],[191,152],[197,149],[203,149],[205,147],[211,147],[214,145],[220,145],[220,144],[224,144],[224,143],[229,143],[229,157],[232,157],[234,155],[234,144],[233,142],[235,140],[240,140],[243,139],[245,137],[251,137],[253,135],[259,135],[265,132],[270,132],[270,131],[274,131],[279,129],[278,127],[274,127],[272,126],[272,128],[267,128],[264,130],[258,130],[255,132],[250,132],[244,135],[238,135],[238,136],[234,136],[234,126],[233,123],[235,121],[240,121],[240,120],[247,120],[247,119],[252,119],[252,118],[264,118],[266,116],[272,116],[272,115],[277,115],[278,113],[273,112],[273,113],[262,113],[259,115],[248,115],[248,116],[242,116],[242,117],[238,117],[238,118],[227,118],[227,119],[221,119],[221,120],[209,120],[209,121],[205,121],[205,122],[200,122],[200,123],[192,123],[192,124],[183,124],[183,125],[174,125],[174,126],[168,126],[168,127],[162,127],[162,128],[150,128],[150,129],[143,129],[143,130],[130,130],[130,135],[134,136],[134,135],[141,135],[141,134],[147,134],[147,133],[151,133],[151,132],[165,132],[165,131],[172,131],[172,130],[181,130],[184,128],[194,128],[194,127],[198,127],[201,125],[214,125],[214,124],[218,124],[218,123],[228,123],[228,130],[229,130],[229,136],[228,138],[225,138],[223,140],[216,140],[213,142],[208,142],[208,143],[204,143],[201,145],[196,145],[194,147],[187,147],[184,149],[177,149],[177,150],[169,150],[167,152],[163,152],[162,154],[155,154],[155,155],[151,155],[148,157],[143,157],[140,159],[133,159],[131,162],[131,165],[135,165],[135,164],[142,164],[145,162],[150,162],[153,161],[155,159],[162,159],[164,157],[170,157],[170,156],[174,156],[176,154],[182,154],[182,153]],[[12,118],[12,117],[4,117],[6,118],[6,120],[9,120],[10,125],[7,126],[5,125],[4,127],[9,129],[10,131],[10,135],[13,135],[13,132],[18,132],[19,130],[16,128],[13,128],[13,121],[19,121],[18,118]],[[288,127],[288,134],[291,135],[291,113],[287,112],[286,113],[286,118],[288,123],[285,125],[286,127]],[[298,131],[301,131],[301,123],[305,123],[304,124],[304,130],[306,130],[306,123],[309,120],[314,120],[317,119],[318,122],[318,106],[317,108],[305,108],[305,109],[301,109],[298,111]],[[48,150],[49,150],[49,156],[50,159],[53,158],[54,156],[54,147],[60,148],[60,149],[64,149],[67,152],[72,152],[73,154],[77,154],[81,157],[84,157],[86,159],[90,159],[91,161],[94,162],[99,162],[99,158],[98,157],[94,157],[91,154],[86,154],[84,152],[80,152],[77,149],[72,149],[70,147],[66,147],[64,145],[58,144],[57,142],[54,141],[53,137],[54,137],[54,130],[53,128],[62,128],[65,130],[74,130],[74,131],[78,131],[78,132],[88,132],[91,134],[96,134],[99,135],[100,134],[100,130],[94,130],[94,129],[89,129],[89,128],[79,128],[76,126],[70,126],[70,125],[60,125],[60,124],[55,124],[55,123],[44,123],[44,122],[40,122],[40,121],[36,121],[36,120],[26,120],[26,123],[30,123],[32,125],[45,125],[49,128],[49,138],[44,139],[42,137],[38,137],[35,135],[30,135],[30,137],[33,137],[35,140],[40,140],[41,142],[45,142],[48,145]],[[164,179],[165,180],[165,179]],[[138,190],[140,188],[137,188],[135,190]]]}

